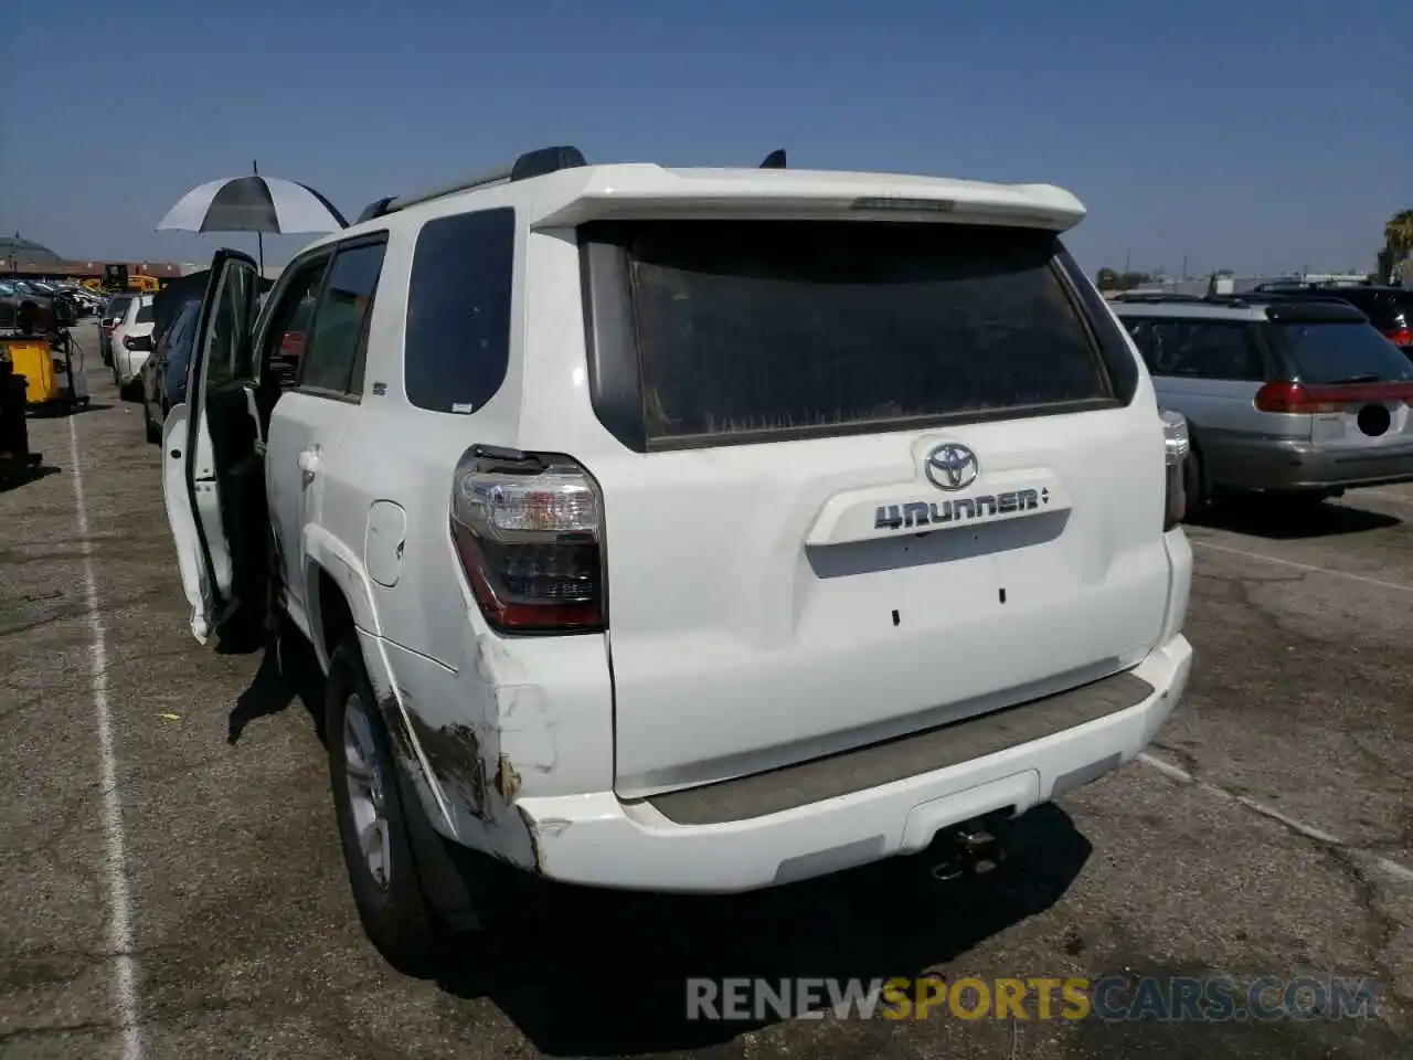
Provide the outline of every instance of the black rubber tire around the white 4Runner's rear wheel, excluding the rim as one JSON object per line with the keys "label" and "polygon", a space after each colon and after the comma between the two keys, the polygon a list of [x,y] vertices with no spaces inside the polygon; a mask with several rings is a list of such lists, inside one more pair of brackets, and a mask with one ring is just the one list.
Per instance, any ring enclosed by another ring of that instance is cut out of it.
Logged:
{"label": "black rubber tire around the white 4Runner's rear wheel, excluding the rim", "polygon": [[[355,697],[360,701],[355,705]],[[349,787],[349,752],[345,719],[350,705],[369,722],[377,766],[382,818],[387,830],[386,879],[379,881],[359,845]],[[363,707],[366,705],[366,707]],[[339,644],[329,660],[324,704],[325,743],[329,752],[329,780],[338,820],[343,862],[353,890],[353,903],[369,940],[384,960],[406,975],[428,975],[441,953],[445,929],[432,912],[417,872],[408,837],[407,811],[397,782],[397,763],[377,708],[363,657],[356,640]]]}

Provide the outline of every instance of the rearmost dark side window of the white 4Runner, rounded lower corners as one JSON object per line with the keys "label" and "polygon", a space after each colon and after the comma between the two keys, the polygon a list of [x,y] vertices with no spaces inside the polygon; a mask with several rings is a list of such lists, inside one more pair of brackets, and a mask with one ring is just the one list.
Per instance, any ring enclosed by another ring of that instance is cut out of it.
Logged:
{"label": "rearmost dark side window of the white 4Runner, rounded lower corners", "polygon": [[438,218],[422,226],[407,291],[403,383],[437,413],[473,413],[510,365],[512,208]]}

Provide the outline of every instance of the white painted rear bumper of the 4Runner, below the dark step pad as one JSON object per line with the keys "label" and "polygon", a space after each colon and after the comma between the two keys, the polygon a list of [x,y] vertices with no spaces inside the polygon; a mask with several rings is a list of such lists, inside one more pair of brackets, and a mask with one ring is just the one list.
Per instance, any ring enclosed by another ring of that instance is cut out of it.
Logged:
{"label": "white painted rear bumper of the 4Runner, below the dark step pad", "polygon": [[726,893],[827,875],[921,851],[942,828],[998,810],[1023,813],[1129,762],[1177,705],[1191,659],[1191,646],[1177,635],[1129,671],[1150,687],[1132,705],[764,815],[678,824],[658,808],[664,800],[625,803],[612,791],[521,799],[517,806],[534,832],[540,871],[557,881]]}

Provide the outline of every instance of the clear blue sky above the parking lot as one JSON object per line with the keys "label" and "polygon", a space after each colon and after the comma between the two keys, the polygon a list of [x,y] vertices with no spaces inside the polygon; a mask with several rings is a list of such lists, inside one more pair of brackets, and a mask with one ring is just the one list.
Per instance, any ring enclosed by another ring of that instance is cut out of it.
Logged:
{"label": "clear blue sky above the parking lot", "polygon": [[[155,232],[247,172],[348,215],[571,143],[589,161],[899,170],[1074,191],[1092,269],[1372,267],[1413,208],[1409,0],[0,4],[0,232]],[[283,261],[308,236],[266,242]]]}

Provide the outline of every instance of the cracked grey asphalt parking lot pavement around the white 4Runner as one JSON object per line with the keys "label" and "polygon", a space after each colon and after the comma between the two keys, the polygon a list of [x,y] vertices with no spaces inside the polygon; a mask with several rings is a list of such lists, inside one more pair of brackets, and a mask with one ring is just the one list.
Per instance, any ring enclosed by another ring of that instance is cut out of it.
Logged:
{"label": "cracked grey asphalt parking lot pavement around the white 4Runner", "polygon": [[[1413,490],[1194,527],[1187,701],[1147,760],[1022,818],[996,878],[894,861],[732,899],[558,893],[415,981],[359,929],[317,690],[191,639],[160,449],[100,372],[93,410],[31,424],[58,471],[0,493],[0,1054],[1413,1053]],[[1376,977],[1383,1001],[1341,1022],[684,1019],[687,977],[923,971]]]}

